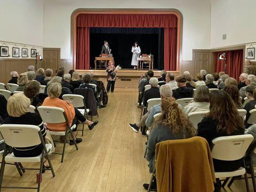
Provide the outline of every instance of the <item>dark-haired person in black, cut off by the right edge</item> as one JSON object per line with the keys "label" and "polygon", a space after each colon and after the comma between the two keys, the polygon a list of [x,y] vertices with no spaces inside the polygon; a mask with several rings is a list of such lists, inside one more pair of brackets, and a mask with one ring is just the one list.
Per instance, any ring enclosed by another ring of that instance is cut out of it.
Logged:
{"label": "dark-haired person in black, cut off by the right edge", "polygon": [[255,108],[256,105],[256,88],[255,86],[247,86],[245,88],[245,95],[247,96],[247,98],[250,100],[248,101],[245,106],[244,109],[247,111],[246,113],[246,118],[245,118],[245,127],[248,128],[249,126],[251,126],[251,124],[247,123],[247,120],[250,117],[250,110]]}

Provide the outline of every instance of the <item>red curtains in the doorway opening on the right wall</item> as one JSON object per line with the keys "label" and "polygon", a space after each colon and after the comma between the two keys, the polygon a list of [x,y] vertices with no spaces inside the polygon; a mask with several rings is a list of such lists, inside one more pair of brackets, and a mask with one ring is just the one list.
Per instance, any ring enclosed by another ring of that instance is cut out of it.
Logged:
{"label": "red curtains in the doorway opening on the right wall", "polygon": [[226,60],[219,60],[219,55],[223,53],[214,53],[214,71],[224,72],[224,65],[227,64],[227,74],[237,81],[240,74],[243,72],[243,50],[224,51],[226,53]]}

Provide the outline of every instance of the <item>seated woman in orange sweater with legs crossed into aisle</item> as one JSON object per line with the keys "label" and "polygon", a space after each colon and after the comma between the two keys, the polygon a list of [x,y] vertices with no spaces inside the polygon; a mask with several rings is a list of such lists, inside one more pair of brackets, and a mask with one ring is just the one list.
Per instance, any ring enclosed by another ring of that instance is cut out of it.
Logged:
{"label": "seated woman in orange sweater with legs crossed into aisle", "polygon": [[[85,124],[88,125],[89,129],[92,130],[94,126],[98,124],[98,120],[94,122],[86,120],[85,117],[80,113],[80,111],[73,107],[72,102],[63,101],[59,99],[59,96],[61,95],[60,83],[49,84],[47,88],[47,94],[48,94],[48,97],[45,98],[42,106],[63,108],[70,126],[72,126],[73,124],[77,125],[78,120],[80,120],[81,122],[85,122]],[[67,123],[66,122],[48,123],[47,128],[50,131],[59,131],[59,132],[66,131]],[[74,135],[76,135],[76,128],[73,130]],[[80,143],[80,142],[82,142],[82,139],[76,138],[76,143]],[[70,140],[70,143],[73,144],[73,140]]]}

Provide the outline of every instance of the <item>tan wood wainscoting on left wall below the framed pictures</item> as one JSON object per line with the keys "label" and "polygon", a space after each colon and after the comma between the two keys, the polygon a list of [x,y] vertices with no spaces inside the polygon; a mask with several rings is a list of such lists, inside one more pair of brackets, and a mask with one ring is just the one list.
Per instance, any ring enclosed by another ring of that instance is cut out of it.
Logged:
{"label": "tan wood wainscoting on left wall below the framed pictures", "polygon": [[[16,71],[19,74],[27,72],[29,65],[35,66],[35,59],[0,59],[0,82],[7,84],[11,79],[10,72]],[[42,66],[42,61],[37,61],[37,69]]]}

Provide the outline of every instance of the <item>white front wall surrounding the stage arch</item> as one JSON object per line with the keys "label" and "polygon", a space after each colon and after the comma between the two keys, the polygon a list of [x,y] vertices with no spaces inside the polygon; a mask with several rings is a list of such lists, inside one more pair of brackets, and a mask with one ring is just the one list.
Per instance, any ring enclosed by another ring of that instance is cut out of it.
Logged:
{"label": "white front wall surrounding the stage arch", "polygon": [[182,60],[192,60],[192,49],[210,47],[210,0],[45,0],[44,47],[61,48],[61,59],[71,58],[71,14],[78,8],[174,8],[183,14]]}

